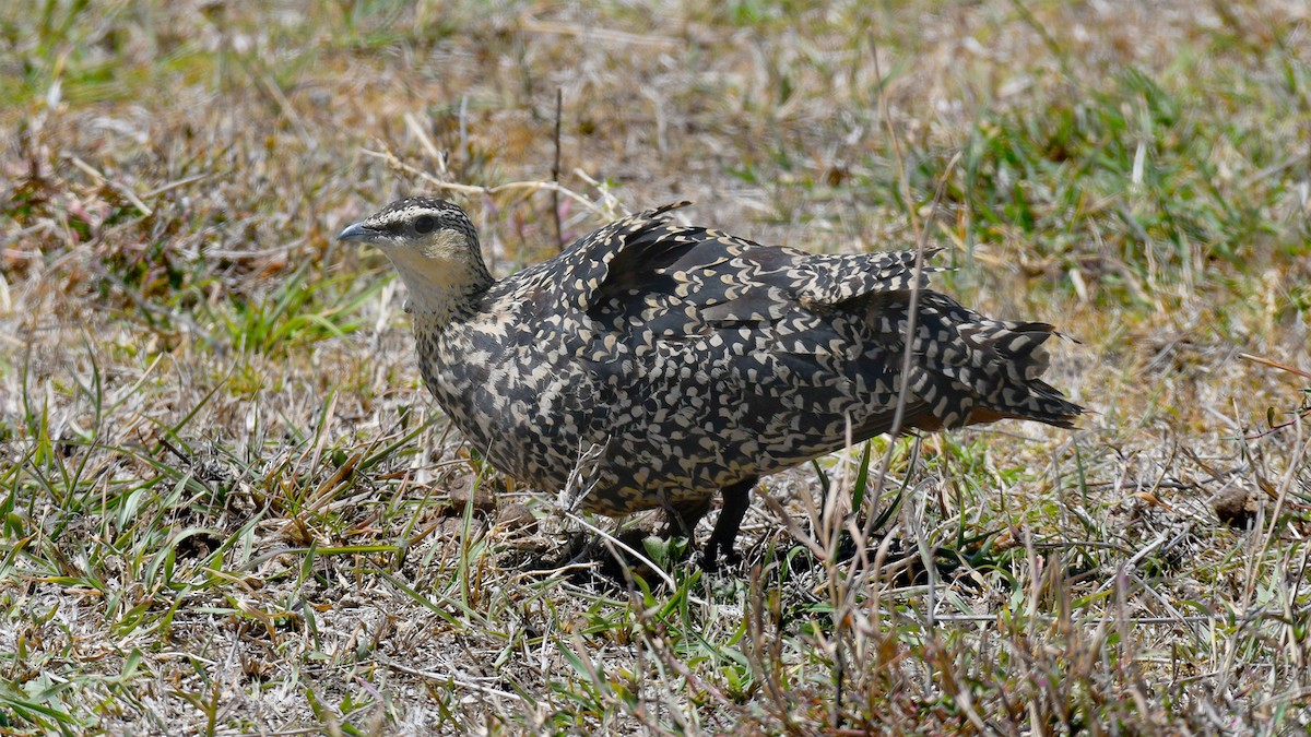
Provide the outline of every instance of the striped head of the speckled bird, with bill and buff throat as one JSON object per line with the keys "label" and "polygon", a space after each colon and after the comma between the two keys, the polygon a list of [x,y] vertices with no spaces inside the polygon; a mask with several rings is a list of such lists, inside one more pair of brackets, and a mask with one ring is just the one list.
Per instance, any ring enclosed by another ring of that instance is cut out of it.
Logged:
{"label": "striped head of the speckled bird, with bill and buff throat", "polygon": [[446,311],[492,283],[469,216],[435,197],[392,202],[347,226],[337,240],[367,243],[387,254],[414,309]]}

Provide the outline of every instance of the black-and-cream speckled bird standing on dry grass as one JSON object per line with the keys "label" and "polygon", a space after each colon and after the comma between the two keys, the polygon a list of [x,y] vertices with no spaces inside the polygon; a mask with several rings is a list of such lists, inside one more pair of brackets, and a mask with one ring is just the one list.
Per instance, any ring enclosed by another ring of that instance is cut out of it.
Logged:
{"label": "black-and-cream speckled bird standing on dry grass", "polygon": [[608,517],[663,509],[688,538],[718,493],[709,570],[741,561],[763,476],[893,430],[1072,428],[1084,412],[1041,379],[1053,325],[933,291],[916,250],[762,245],[676,223],[686,205],[505,278],[468,214],[437,197],[392,202],[338,240],[392,262],[423,383],[493,467],[539,490],[573,484],[572,504]]}

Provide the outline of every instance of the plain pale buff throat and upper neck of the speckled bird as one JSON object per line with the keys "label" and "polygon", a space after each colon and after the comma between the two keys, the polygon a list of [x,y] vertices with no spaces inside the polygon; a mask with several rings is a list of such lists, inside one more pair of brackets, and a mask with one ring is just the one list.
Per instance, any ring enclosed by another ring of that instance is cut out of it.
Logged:
{"label": "plain pale buff throat and upper neck of the speckled bird", "polygon": [[473,308],[494,282],[486,264],[473,253],[442,260],[404,252],[388,257],[409,291],[405,311],[414,315],[416,323],[437,328]]}

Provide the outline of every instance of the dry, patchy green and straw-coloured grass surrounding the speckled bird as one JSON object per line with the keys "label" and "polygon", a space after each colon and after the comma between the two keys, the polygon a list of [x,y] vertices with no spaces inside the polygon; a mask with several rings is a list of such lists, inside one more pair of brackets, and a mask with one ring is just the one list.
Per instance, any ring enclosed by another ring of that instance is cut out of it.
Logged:
{"label": "dry, patchy green and straw-coloured grass surrounding the speckled bird", "polygon": [[[0,9],[0,733],[1307,729],[1307,382],[1239,358],[1311,367],[1306,4],[703,5]],[[557,89],[582,197],[481,189],[549,180]],[[553,494],[332,240],[414,172],[501,271],[679,198],[926,232],[1095,413],[771,479],[737,574],[534,574]]]}

